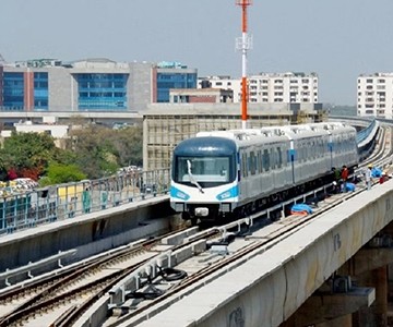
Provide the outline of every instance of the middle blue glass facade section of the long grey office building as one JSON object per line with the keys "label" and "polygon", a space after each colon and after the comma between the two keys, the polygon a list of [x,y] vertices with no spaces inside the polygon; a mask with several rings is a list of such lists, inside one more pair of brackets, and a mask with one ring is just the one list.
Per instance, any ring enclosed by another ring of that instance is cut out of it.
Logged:
{"label": "middle blue glass facade section of the long grey office building", "polygon": [[79,110],[127,110],[128,74],[75,74]]}

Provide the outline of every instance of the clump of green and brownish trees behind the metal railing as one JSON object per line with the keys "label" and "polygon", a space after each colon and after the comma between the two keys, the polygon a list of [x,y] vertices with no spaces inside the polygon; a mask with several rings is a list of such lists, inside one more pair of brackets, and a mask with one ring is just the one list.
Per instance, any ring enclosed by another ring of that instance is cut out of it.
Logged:
{"label": "clump of green and brownish trees behind the metal railing", "polygon": [[70,132],[66,149],[57,148],[48,134],[13,132],[0,149],[0,173],[7,177],[15,171],[19,177],[35,180],[45,175],[41,183],[50,184],[97,179],[115,173],[119,167],[142,165],[141,126],[79,126]]}

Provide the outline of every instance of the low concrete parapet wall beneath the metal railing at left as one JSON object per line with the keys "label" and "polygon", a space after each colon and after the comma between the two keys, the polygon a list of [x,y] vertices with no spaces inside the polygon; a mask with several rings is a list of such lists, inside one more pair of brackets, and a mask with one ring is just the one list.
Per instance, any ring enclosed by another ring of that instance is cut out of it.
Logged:
{"label": "low concrete parapet wall beneath the metal railing at left", "polygon": [[[79,249],[75,259],[126,244],[142,237],[135,232],[138,227],[153,233],[150,231],[153,220],[172,214],[167,198],[155,197],[4,235],[0,238],[0,271],[59,251]],[[163,228],[169,229],[169,226],[168,218]]]}

